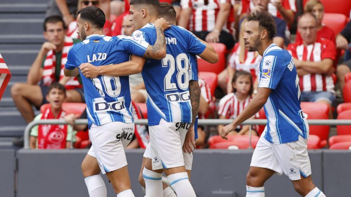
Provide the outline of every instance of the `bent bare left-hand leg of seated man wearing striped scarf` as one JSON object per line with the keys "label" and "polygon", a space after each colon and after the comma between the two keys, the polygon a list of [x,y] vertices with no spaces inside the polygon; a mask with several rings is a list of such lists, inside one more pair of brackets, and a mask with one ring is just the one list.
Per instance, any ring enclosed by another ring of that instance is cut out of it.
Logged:
{"label": "bent bare left-hand leg of seated man wearing striped scarf", "polygon": [[28,83],[16,83],[11,87],[11,96],[26,122],[32,122],[34,119],[32,104],[40,107],[44,99],[40,86]]}

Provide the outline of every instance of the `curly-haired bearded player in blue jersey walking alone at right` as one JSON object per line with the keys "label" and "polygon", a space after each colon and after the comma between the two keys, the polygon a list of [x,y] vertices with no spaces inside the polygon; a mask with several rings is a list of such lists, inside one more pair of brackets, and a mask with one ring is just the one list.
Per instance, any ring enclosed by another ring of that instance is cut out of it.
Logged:
{"label": "curly-haired bearded player in blue jersey walking alone at right", "polygon": [[276,33],[272,16],[261,11],[247,20],[245,47],[263,56],[258,93],[221,132],[227,139],[229,132],[264,106],[267,126],[252,155],[246,176],[246,197],[264,197],[267,179],[283,172],[301,196],[325,197],[312,182],[307,154],[309,125],[300,107],[299,77],[293,59],[286,50],[272,43]]}

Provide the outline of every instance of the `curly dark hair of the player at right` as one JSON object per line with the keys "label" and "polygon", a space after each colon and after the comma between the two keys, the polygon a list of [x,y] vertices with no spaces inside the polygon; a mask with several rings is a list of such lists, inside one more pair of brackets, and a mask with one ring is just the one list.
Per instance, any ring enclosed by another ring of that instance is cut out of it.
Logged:
{"label": "curly dark hair of the player at right", "polygon": [[276,22],[271,14],[266,11],[259,11],[251,13],[247,17],[247,22],[258,21],[259,30],[265,28],[268,32],[269,39],[273,39],[276,36]]}

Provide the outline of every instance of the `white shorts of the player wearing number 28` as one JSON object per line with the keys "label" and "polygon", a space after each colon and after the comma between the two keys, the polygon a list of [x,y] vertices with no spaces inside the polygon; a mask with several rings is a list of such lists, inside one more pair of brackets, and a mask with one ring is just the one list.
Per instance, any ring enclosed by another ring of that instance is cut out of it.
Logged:
{"label": "white shorts of the player wearing number 28", "polygon": [[144,157],[152,159],[152,169],[167,169],[185,165],[191,170],[192,154],[183,152],[183,143],[190,123],[166,122],[149,126],[150,143]]}

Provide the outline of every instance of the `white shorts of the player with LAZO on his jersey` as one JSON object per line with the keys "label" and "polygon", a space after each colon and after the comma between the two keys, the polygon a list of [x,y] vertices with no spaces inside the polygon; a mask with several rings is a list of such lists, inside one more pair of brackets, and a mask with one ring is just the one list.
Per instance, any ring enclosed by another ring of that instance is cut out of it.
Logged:
{"label": "white shorts of the player with LAZO on his jersey", "polygon": [[102,174],[127,165],[124,152],[134,135],[134,123],[109,122],[101,126],[92,124],[89,138],[92,147],[88,155],[98,160]]}

